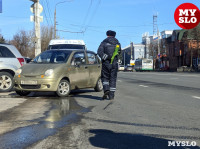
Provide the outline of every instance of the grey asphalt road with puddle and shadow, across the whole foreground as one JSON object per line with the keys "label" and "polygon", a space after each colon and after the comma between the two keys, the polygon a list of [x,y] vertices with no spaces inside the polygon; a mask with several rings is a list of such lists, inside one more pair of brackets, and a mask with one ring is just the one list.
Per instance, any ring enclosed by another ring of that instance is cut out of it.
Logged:
{"label": "grey asphalt road with puddle and shadow, across the whole foreground", "polygon": [[0,148],[163,149],[200,146],[200,74],[119,72],[115,100],[0,93]]}

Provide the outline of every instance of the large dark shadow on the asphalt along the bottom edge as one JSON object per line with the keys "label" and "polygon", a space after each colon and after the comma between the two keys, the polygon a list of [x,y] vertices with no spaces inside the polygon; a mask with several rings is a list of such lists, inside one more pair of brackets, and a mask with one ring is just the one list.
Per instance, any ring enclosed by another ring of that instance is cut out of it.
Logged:
{"label": "large dark shadow on the asphalt along the bottom edge", "polygon": [[95,134],[89,138],[89,142],[99,148],[107,149],[199,149],[199,147],[168,146],[168,141],[153,136],[131,133],[116,133],[105,129],[91,129]]}

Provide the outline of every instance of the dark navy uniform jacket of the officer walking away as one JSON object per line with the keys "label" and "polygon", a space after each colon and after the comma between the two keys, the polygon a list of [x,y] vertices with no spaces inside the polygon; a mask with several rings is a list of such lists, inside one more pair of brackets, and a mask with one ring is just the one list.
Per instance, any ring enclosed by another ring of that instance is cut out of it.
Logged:
{"label": "dark navy uniform jacket of the officer walking away", "polygon": [[[99,49],[97,51],[97,54],[100,56],[102,62],[111,61],[111,57],[113,55],[113,52],[115,51],[115,47],[117,44],[120,46],[119,48],[119,54],[120,54],[121,45],[115,37],[108,37],[101,42]],[[117,62],[117,61],[118,61],[118,56],[115,57],[113,62]]]}

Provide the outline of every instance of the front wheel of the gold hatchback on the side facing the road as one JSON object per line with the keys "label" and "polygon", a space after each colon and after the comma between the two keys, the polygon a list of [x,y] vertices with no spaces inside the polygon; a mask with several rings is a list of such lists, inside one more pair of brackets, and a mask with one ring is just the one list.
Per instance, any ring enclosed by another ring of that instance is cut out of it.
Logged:
{"label": "front wheel of the gold hatchback on the side facing the road", "polygon": [[61,80],[58,84],[58,89],[56,91],[56,94],[60,97],[68,96],[71,91],[71,86],[69,81],[67,80]]}

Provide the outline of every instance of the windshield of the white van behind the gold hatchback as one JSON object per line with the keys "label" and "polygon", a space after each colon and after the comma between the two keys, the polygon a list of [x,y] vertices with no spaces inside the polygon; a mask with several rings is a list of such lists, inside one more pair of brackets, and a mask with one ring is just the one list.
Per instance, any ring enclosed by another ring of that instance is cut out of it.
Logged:
{"label": "windshield of the white van behind the gold hatchback", "polygon": [[84,45],[76,45],[76,44],[57,44],[57,45],[49,45],[48,50],[51,49],[82,49],[85,50]]}

